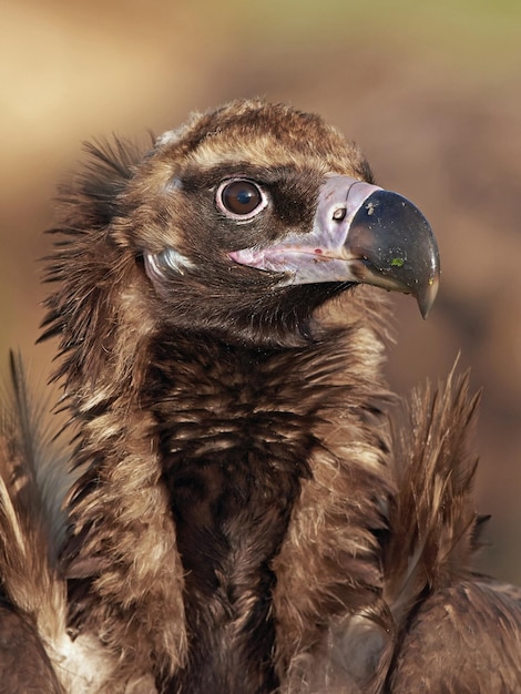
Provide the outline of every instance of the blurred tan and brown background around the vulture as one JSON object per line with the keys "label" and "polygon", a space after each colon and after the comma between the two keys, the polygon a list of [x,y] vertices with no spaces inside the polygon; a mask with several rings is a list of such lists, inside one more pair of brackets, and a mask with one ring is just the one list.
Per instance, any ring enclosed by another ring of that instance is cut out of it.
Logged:
{"label": "blurred tan and brown background around the vulture", "polygon": [[[521,583],[521,3],[517,0],[0,0],[0,355],[33,347],[57,182],[81,142],[147,137],[264,95],[321,113],[439,239],[427,322],[394,297],[399,392],[460,353],[483,388],[480,569]],[[6,369],[0,369],[2,372]]]}

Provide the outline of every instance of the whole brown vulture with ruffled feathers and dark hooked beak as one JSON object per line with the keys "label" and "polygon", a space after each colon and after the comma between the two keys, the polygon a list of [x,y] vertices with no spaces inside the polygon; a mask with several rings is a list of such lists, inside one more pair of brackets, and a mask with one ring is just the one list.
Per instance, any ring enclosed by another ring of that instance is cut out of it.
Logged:
{"label": "whole brown vulture with ruffled feathers and dark hooked beak", "polygon": [[88,151],[54,415],[17,355],[3,395],[0,691],[521,692],[521,591],[472,569],[468,375],[384,375],[388,292],[437,293],[422,213],[264,100]]}

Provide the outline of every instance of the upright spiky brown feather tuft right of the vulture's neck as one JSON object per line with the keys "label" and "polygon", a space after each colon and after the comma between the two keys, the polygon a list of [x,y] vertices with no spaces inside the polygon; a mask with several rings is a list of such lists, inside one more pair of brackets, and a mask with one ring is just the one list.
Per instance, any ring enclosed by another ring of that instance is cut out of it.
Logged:
{"label": "upright spiky brown feather tuft right of the vulture's neck", "polygon": [[469,568],[476,549],[478,461],[469,438],[480,394],[469,395],[469,374],[456,368],[437,388],[429,382],[416,388],[403,401],[402,423],[394,422],[398,493],[384,561],[387,599],[398,619],[426,588],[442,588],[453,572]]}

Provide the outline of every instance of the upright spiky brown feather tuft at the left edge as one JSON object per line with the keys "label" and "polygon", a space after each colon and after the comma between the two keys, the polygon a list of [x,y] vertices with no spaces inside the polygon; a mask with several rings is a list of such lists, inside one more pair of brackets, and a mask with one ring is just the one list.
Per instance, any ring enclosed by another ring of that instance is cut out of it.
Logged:
{"label": "upright spiky brown feather tuft at the left edge", "polygon": [[65,533],[62,501],[70,483],[45,402],[29,391],[22,359],[11,353],[0,420],[0,565],[8,598],[29,614],[49,603],[35,585],[55,590],[51,574]]}

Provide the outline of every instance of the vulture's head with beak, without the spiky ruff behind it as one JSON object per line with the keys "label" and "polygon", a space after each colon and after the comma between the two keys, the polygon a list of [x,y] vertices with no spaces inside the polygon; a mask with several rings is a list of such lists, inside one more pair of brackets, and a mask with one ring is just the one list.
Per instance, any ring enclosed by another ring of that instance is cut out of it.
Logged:
{"label": "vulture's head with beak, without the spiky ruff behind it", "polygon": [[436,296],[438,251],[421,213],[375,186],[333,127],[287,106],[235,103],[163,134],[123,200],[132,224],[113,225],[118,243],[186,325],[195,312],[235,334],[294,330],[357,283],[411,293],[423,315]]}

